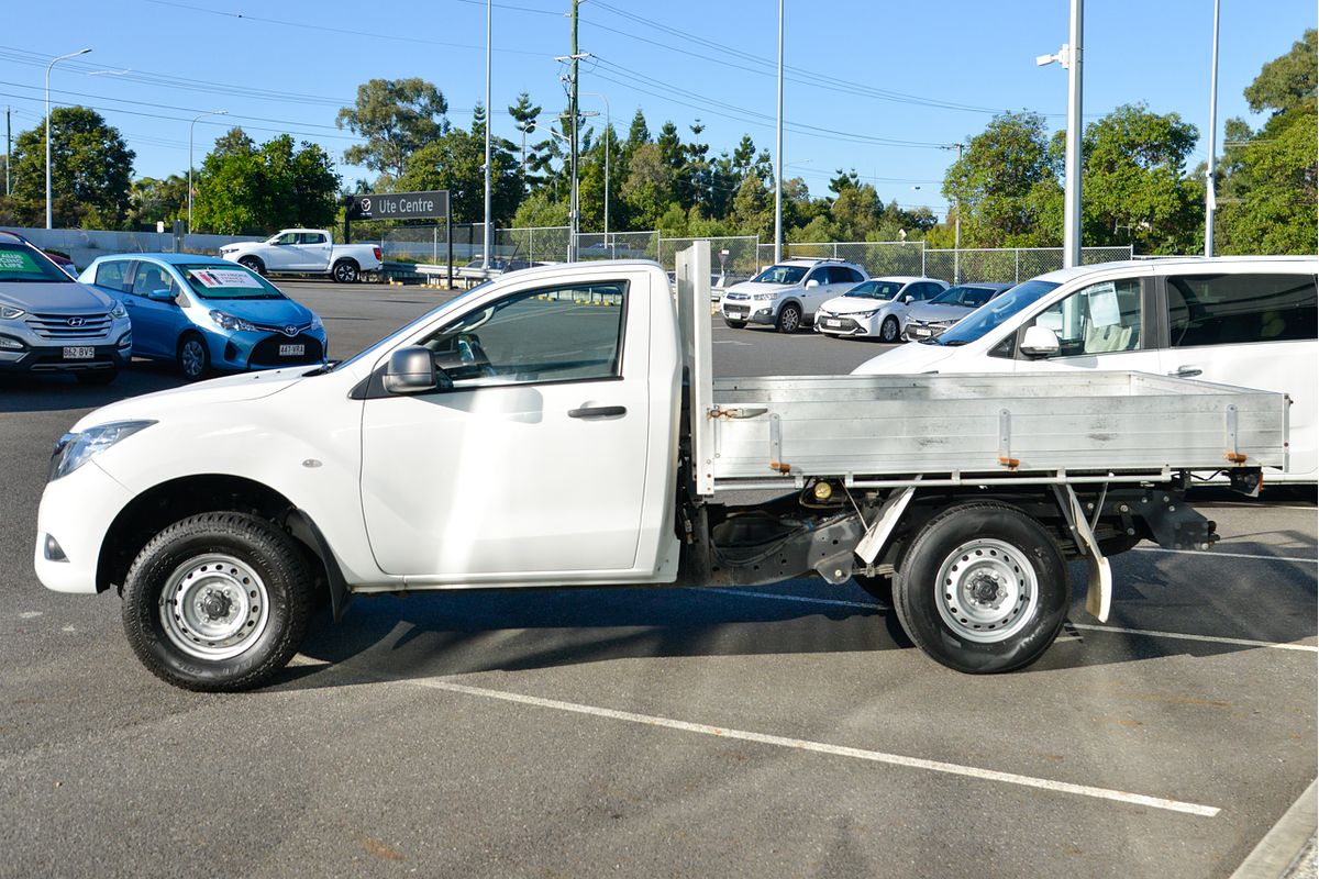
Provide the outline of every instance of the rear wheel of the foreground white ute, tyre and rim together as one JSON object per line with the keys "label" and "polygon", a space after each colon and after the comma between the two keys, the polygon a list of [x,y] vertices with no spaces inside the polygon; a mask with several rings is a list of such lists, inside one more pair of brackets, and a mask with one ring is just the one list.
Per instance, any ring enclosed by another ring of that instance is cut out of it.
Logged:
{"label": "rear wheel of the foreground white ute, tyre and rim together", "polygon": [[1071,601],[1062,550],[1006,503],[964,503],[930,519],[898,568],[893,606],[935,662],[973,675],[1038,659]]}

